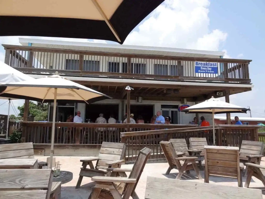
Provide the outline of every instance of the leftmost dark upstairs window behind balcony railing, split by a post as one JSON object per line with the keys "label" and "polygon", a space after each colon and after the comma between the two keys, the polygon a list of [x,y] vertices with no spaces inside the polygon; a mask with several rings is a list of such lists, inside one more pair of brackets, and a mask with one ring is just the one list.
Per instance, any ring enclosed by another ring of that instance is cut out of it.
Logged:
{"label": "leftmost dark upstairs window behind balcony railing, split by a post", "polygon": [[[83,71],[99,71],[99,61],[84,60]],[[65,70],[79,70],[79,60],[66,59]]]}

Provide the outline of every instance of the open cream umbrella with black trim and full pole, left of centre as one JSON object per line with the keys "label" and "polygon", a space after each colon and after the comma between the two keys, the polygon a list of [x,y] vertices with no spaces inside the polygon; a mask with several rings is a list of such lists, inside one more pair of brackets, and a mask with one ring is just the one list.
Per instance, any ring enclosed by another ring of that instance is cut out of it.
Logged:
{"label": "open cream umbrella with black trim and full pole, left of centre", "polygon": [[[54,154],[54,131],[55,131],[55,113],[57,100],[75,100],[87,101],[89,99],[105,96],[103,93],[87,88],[86,86],[77,84],[73,81],[58,75],[46,76],[39,79],[5,84],[6,89],[1,94],[11,94],[17,98],[28,97],[37,101],[53,100],[53,119],[52,119],[52,135],[51,135],[51,158],[50,168],[52,167],[52,157]],[[111,98],[111,97],[109,97]]]}

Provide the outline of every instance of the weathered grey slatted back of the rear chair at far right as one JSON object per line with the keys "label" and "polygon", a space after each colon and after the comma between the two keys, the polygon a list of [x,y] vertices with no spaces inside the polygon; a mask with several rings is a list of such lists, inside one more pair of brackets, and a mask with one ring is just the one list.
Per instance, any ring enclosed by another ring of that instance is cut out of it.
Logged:
{"label": "weathered grey slatted back of the rear chair at far right", "polygon": [[242,140],[240,147],[241,160],[248,160],[247,155],[262,155],[264,150],[264,143],[258,141]]}

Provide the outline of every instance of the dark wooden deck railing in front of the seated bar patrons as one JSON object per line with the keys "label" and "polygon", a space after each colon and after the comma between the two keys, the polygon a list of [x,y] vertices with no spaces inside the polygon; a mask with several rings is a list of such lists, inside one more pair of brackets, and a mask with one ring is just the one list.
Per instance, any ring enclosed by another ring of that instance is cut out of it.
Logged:
{"label": "dark wooden deck railing in front of the seated bar patrons", "polygon": [[[52,122],[20,122],[25,142],[51,143]],[[120,142],[120,133],[126,131],[149,131],[161,128],[184,128],[180,124],[100,124],[100,123],[55,123],[55,144],[101,144],[103,141]],[[192,125],[196,126],[196,125]]]}

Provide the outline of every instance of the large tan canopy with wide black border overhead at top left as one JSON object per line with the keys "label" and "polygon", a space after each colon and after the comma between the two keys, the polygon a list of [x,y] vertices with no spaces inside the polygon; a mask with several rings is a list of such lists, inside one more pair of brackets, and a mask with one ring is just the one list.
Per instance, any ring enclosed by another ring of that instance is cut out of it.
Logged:
{"label": "large tan canopy with wide black border overhead at top left", "polygon": [[122,44],[163,1],[0,0],[0,36],[85,38]]}

